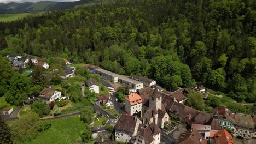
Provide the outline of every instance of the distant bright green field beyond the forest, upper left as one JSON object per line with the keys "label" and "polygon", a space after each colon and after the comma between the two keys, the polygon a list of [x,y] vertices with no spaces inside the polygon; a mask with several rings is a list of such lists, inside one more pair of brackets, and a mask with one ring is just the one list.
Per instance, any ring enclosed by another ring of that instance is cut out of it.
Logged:
{"label": "distant bright green field beyond the forest, upper left", "polygon": [[30,15],[40,15],[43,12],[34,12],[34,13],[18,13],[18,14],[0,14],[0,21],[15,21],[18,19],[23,19],[24,17],[30,16]]}

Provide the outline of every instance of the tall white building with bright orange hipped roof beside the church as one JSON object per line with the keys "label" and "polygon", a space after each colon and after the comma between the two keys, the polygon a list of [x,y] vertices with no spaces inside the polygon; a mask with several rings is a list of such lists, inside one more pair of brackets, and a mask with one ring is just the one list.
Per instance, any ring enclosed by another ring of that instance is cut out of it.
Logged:
{"label": "tall white building with bright orange hipped roof beside the church", "polygon": [[142,98],[137,93],[131,93],[125,97],[125,111],[129,115],[136,114],[142,110]]}

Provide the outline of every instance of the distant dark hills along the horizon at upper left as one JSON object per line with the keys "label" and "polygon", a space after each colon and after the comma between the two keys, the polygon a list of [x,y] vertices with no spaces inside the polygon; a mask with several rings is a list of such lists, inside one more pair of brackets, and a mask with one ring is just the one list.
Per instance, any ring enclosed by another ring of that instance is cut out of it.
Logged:
{"label": "distant dark hills along the horizon at upper left", "polygon": [[58,10],[58,9],[72,9],[75,5],[86,4],[94,0],[80,0],[76,2],[51,2],[51,1],[40,1],[36,3],[25,2],[25,3],[0,3],[0,13],[27,13],[33,11],[43,10]]}

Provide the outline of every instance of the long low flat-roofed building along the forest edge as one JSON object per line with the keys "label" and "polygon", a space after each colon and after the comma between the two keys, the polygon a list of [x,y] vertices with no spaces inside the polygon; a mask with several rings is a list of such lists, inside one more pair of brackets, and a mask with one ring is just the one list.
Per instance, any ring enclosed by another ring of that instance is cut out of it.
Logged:
{"label": "long low flat-roofed building along the forest edge", "polygon": [[130,79],[126,76],[118,75],[118,74],[112,73],[111,71],[100,69],[100,68],[97,68],[94,70],[96,74],[109,79],[111,82],[114,82],[114,83],[120,82],[134,89],[143,88],[143,82],[139,82],[139,81]]}

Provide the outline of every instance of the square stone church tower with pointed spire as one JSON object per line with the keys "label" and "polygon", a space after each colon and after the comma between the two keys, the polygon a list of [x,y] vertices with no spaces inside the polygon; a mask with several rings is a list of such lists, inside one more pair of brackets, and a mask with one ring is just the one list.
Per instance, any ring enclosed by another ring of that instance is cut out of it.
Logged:
{"label": "square stone church tower with pointed spire", "polygon": [[152,95],[149,96],[149,109],[158,110],[162,106],[162,96],[158,93],[158,88],[155,87]]}

